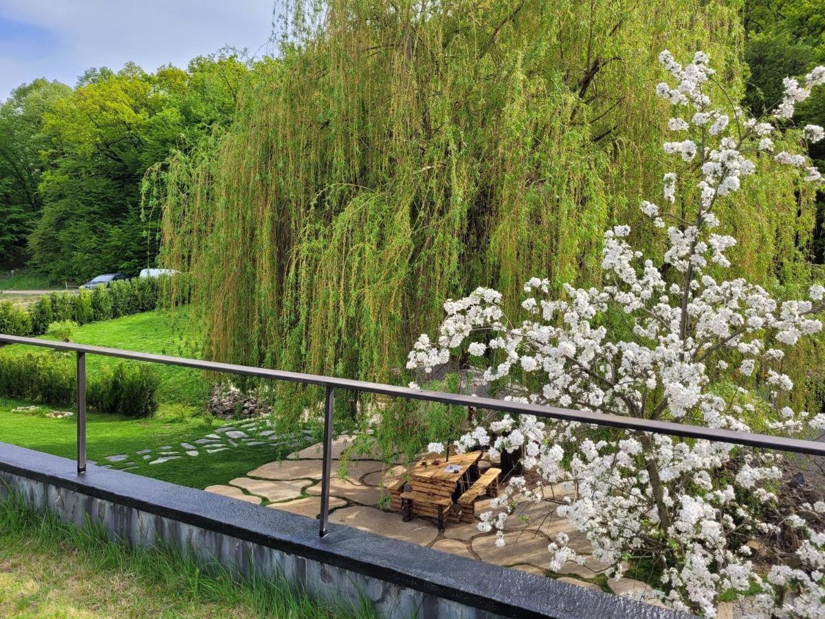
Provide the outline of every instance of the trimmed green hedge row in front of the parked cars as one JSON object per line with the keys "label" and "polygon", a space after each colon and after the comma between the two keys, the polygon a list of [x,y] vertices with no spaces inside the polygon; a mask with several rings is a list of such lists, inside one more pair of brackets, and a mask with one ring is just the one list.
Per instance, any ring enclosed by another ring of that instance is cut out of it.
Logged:
{"label": "trimmed green hedge row in front of the parked cars", "polygon": [[[161,281],[157,277],[137,277],[132,280],[113,281],[111,286],[97,286],[92,291],[80,290],[76,295],[68,292],[53,292],[40,297],[28,309],[21,309],[27,315],[26,333],[7,331],[0,309],[0,333],[12,335],[42,335],[49,325],[62,320],[73,320],[77,324],[87,324],[138,314],[158,306]],[[11,304],[9,304],[11,305]]]}

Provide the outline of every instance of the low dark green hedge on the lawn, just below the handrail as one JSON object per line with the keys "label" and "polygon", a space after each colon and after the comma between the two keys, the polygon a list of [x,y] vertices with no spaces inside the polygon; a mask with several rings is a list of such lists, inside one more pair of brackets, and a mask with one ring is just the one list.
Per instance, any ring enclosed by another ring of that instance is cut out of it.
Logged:
{"label": "low dark green hedge on the lawn, just below the handrail", "polygon": [[[74,357],[51,352],[0,356],[0,395],[43,404],[77,401]],[[121,361],[88,376],[87,404],[101,413],[148,417],[158,410],[160,377],[145,364]]]}

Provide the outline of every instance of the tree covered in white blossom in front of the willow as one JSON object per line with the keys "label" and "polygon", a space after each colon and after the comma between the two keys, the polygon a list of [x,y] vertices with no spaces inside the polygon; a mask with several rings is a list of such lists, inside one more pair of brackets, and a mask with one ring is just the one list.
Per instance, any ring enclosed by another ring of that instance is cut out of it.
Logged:
{"label": "tree covered in white blossom in front of the willow", "polygon": [[[757,158],[822,182],[805,155],[774,154],[773,140],[794,104],[825,84],[825,67],[804,83],[785,79],[783,100],[753,119],[738,107],[712,105],[707,91],[714,71],[705,54],[684,67],[667,51],[659,59],[676,86],[660,83],[657,92],[672,104],[670,129],[685,136],[664,144],[665,154],[683,160],[664,176],[664,207],[641,203],[655,226],[669,224],[664,264],[634,251],[628,226],[617,226],[605,234],[604,286],[564,286],[559,300],[549,298],[549,281],[531,279],[521,304],[528,318],[520,323],[504,315],[497,291],[479,288],[449,300],[437,341],[422,335],[408,367],[431,371],[467,346],[482,362],[483,356],[496,360],[484,380],[509,380],[508,398],[735,430],[761,418],[763,428],[809,436],[812,428],[825,429],[825,414],[782,404],[792,384],[780,366],[787,347],[822,328],[815,316],[825,309],[825,288],[812,286],[810,300],[779,302],[760,286],[719,278],[729,266],[725,251],[736,241],[714,231],[714,208],[755,172]],[[803,133],[823,139],[818,126]],[[606,328],[610,315],[624,317],[623,335]],[[766,388],[757,391],[757,380]],[[825,617],[825,532],[775,509],[780,454],[644,432],[593,440],[586,432],[592,428],[528,415],[488,422],[456,443],[460,451],[521,449],[526,470],[539,480],[513,478],[493,512],[483,514],[479,528],[495,530],[499,545],[508,516],[542,500],[548,485],[573,480],[576,493],[556,503],[555,514],[587,536],[612,574],[623,574],[628,560],[658,566],[651,584],[668,606],[714,616],[720,593],[756,592],[765,616]],[[825,513],[821,501],[800,507]],[[788,527],[798,542],[787,553],[793,560],[771,555],[772,565],[757,565],[747,541]],[[563,534],[549,552],[554,570],[582,561]]]}

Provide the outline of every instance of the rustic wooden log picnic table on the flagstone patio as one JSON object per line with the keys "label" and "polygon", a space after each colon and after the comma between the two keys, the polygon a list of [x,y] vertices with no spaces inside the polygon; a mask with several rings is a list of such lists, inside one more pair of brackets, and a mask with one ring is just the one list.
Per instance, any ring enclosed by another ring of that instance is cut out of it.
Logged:
{"label": "rustic wooden log picnic table on the flagstone patio", "polygon": [[450,460],[424,457],[417,461],[408,470],[412,492],[401,495],[404,519],[409,520],[413,514],[435,517],[443,531],[445,513],[450,514],[455,500],[478,478],[480,458],[481,451],[470,451],[454,454]]}

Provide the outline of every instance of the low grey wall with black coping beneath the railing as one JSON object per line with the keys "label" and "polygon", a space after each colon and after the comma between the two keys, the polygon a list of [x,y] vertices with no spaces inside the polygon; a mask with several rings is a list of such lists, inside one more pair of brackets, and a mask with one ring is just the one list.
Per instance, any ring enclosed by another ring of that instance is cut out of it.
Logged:
{"label": "low grey wall with black coping beneath the railing", "polygon": [[14,489],[78,525],[91,517],[113,539],[163,541],[241,574],[280,575],[319,600],[367,598],[384,617],[686,617],[342,525],[322,540],[314,519],[94,465],[78,476],[74,466],[0,443],[0,494]]}

